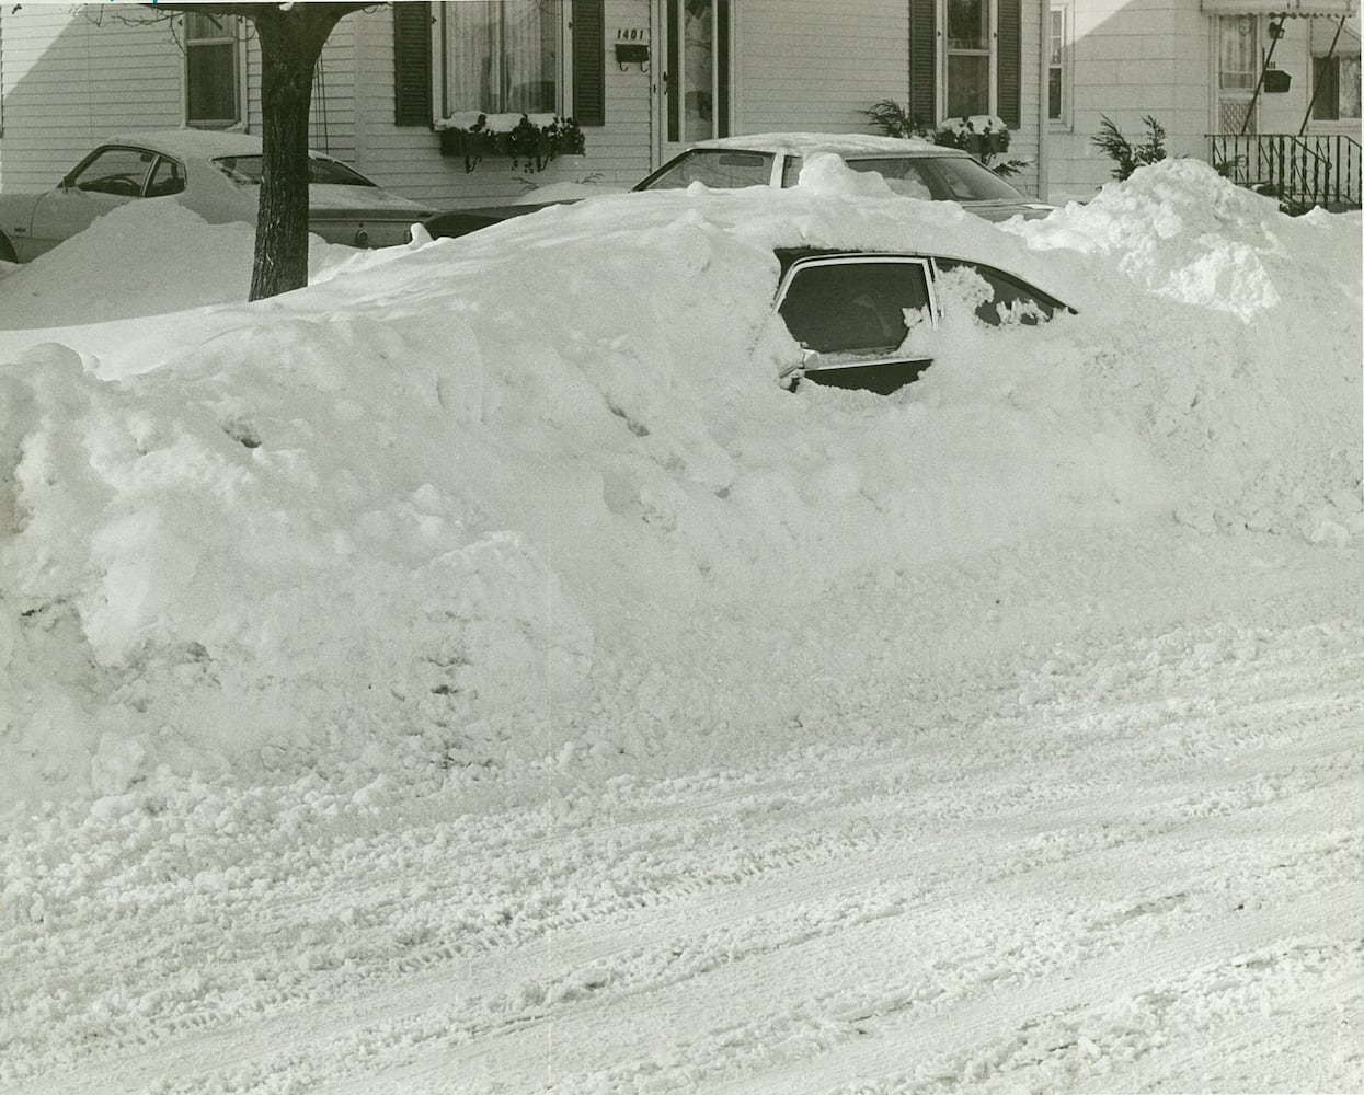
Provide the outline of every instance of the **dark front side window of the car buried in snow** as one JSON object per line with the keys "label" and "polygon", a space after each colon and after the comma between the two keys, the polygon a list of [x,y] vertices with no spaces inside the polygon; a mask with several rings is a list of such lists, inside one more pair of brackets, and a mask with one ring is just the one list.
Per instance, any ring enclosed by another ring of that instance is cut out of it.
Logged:
{"label": "dark front side window of the car buried in snow", "polygon": [[820,355],[893,353],[907,310],[930,304],[923,259],[810,262],[791,273],[777,311],[791,337]]}

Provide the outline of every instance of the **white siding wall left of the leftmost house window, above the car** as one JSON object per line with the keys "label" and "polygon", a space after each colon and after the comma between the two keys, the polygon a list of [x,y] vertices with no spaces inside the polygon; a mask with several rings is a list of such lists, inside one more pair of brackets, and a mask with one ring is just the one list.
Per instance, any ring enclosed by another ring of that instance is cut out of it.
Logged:
{"label": "white siding wall left of the leftmost house window, above the car", "polygon": [[166,16],[26,4],[0,19],[0,188],[44,190],[106,136],[180,124],[184,59]]}

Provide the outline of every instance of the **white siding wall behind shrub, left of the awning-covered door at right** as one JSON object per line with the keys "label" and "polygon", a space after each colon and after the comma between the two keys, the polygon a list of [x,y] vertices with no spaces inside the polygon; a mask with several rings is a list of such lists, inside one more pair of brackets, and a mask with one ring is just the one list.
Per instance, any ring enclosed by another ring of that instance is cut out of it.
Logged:
{"label": "white siding wall behind shrub, left of the awning-covered door at right", "polygon": [[1075,0],[1073,125],[1049,134],[1049,196],[1090,198],[1113,161],[1090,143],[1108,115],[1132,143],[1142,117],[1165,127],[1170,155],[1206,157],[1211,20],[1198,0]]}

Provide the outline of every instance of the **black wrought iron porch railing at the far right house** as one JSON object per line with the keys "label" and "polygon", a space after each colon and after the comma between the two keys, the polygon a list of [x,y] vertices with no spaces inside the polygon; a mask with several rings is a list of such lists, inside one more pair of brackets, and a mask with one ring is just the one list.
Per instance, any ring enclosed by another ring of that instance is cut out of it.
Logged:
{"label": "black wrought iron porch railing at the far right house", "polygon": [[1360,142],[1344,134],[1213,134],[1213,166],[1288,213],[1360,207]]}

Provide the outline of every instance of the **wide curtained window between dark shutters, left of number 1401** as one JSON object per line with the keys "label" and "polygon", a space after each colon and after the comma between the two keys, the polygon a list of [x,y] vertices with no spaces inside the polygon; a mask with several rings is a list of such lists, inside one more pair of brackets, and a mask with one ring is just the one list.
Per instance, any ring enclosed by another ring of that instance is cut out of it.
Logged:
{"label": "wide curtained window between dark shutters, left of number 1401", "polygon": [[461,112],[569,113],[559,0],[458,0],[441,5],[442,117]]}

